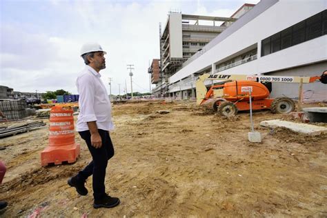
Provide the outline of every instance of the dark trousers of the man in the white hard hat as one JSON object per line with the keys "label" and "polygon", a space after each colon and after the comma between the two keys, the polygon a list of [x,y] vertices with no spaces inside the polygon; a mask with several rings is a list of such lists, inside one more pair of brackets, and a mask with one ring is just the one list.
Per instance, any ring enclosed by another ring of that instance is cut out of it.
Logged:
{"label": "dark trousers of the man in the white hard hat", "polygon": [[88,145],[88,150],[90,150],[92,155],[92,161],[90,164],[88,164],[88,166],[86,166],[86,168],[79,171],[77,179],[79,181],[86,181],[90,175],[93,175],[93,196],[95,199],[101,199],[104,195],[106,195],[106,187],[104,185],[106,168],[108,160],[115,154],[109,132],[107,130],[99,130],[99,134],[102,139],[102,146],[101,148],[95,148],[91,144],[90,131],[86,130],[79,132],[81,138],[84,139]]}

